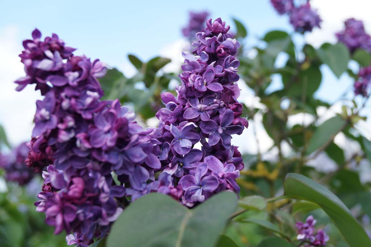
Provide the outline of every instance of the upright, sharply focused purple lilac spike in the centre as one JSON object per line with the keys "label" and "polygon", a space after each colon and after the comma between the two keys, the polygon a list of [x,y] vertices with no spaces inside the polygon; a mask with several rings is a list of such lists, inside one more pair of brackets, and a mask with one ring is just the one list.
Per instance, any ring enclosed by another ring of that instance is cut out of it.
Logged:
{"label": "upright, sharply focused purple lilac spike in the centre", "polygon": [[[240,152],[231,145],[231,135],[248,126],[237,101],[240,63],[234,55],[240,44],[220,18],[206,25],[196,34],[194,55],[183,53],[177,97],[162,93],[166,107],[156,114],[164,172],[183,189],[181,201],[188,207],[219,191],[238,193],[235,179],[244,167]],[[194,148],[197,143],[201,150]]]}

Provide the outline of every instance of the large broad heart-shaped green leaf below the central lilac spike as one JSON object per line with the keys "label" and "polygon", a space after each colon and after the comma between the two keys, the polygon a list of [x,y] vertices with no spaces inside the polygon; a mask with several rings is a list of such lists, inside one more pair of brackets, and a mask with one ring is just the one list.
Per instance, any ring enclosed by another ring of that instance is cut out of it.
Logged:
{"label": "large broad heart-shaped green leaf below the central lilac spike", "polygon": [[124,210],[113,224],[106,246],[212,247],[236,207],[236,194],[227,191],[193,210],[167,195],[151,193]]}

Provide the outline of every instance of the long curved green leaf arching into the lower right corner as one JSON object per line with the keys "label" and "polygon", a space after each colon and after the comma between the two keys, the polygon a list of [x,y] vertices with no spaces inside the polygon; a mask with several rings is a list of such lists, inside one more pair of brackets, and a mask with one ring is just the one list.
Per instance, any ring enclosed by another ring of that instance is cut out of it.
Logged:
{"label": "long curved green leaf arching into the lower right corner", "polygon": [[318,204],[331,218],[350,247],[371,246],[363,227],[331,191],[300,174],[289,173],[283,184],[285,195]]}

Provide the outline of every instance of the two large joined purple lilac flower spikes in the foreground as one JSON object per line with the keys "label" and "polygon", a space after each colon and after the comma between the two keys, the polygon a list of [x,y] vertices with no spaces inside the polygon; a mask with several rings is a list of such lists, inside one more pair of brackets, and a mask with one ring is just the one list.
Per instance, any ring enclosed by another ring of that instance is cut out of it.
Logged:
{"label": "two large joined purple lilac flower spikes in the foreground", "polygon": [[25,162],[44,178],[36,210],[55,234],[70,233],[68,244],[104,237],[130,200],[150,192],[188,207],[239,192],[235,178],[244,166],[231,135],[248,126],[237,101],[240,44],[220,18],[206,25],[194,55],[184,54],[177,97],[162,94],[158,128],[143,129],[118,99],[101,100],[105,63],[74,55],[56,34],[42,41],[37,29],[23,42],[26,76],[15,81],[17,90],[35,84],[44,96]]}

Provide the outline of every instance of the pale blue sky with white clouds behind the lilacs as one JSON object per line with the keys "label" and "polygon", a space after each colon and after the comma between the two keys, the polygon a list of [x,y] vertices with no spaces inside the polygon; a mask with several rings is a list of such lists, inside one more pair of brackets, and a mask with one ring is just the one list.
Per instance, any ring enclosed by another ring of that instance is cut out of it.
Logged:
{"label": "pale blue sky with white clouds behind the lilacs", "polygon": [[[311,3],[324,20],[321,29],[316,29],[305,37],[314,46],[323,42],[335,42],[334,33],[342,29],[342,22],[349,17],[364,20],[371,33],[371,2],[311,0]],[[213,19],[221,17],[232,29],[232,17],[240,20],[249,32],[249,37],[245,40],[247,47],[254,46],[256,40],[269,30],[292,32],[288,18],[278,16],[269,0],[24,0],[1,3],[0,98],[6,104],[0,104],[0,124],[6,128],[10,141],[16,144],[29,139],[35,113],[34,102],[40,98],[32,88],[15,92],[15,85],[12,83],[14,79],[24,75],[17,55],[22,50],[22,40],[30,38],[35,27],[44,36],[58,33],[68,45],[78,48],[77,54],[85,54],[92,59],[99,58],[112,67],[127,71],[132,70],[127,59],[129,53],[148,60],[168,51],[173,58],[181,59],[181,52],[174,50],[174,43],[182,39],[180,30],[187,23],[189,10],[208,10]],[[343,75],[340,80],[336,79],[326,67],[323,68],[323,73],[324,83],[316,93],[321,99],[331,102],[353,83],[347,75]],[[279,87],[280,83],[275,84]]]}

